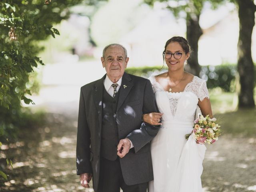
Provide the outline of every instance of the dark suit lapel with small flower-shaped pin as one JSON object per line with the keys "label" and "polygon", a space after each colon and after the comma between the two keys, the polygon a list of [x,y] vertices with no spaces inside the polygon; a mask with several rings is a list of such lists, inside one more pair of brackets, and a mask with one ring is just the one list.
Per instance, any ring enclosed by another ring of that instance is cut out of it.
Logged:
{"label": "dark suit lapel with small flower-shaped pin", "polygon": [[122,84],[120,87],[120,95],[118,98],[118,105],[117,105],[117,110],[119,110],[120,106],[123,104],[124,100],[126,99],[126,97],[128,96],[130,90],[132,89],[132,79],[130,77],[129,74],[124,73],[123,77],[122,77]]}

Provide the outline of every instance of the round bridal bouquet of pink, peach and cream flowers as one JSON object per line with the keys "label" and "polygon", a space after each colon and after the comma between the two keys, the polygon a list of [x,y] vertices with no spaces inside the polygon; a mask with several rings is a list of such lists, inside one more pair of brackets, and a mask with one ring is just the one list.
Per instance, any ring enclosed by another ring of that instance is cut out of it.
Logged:
{"label": "round bridal bouquet of pink, peach and cream flowers", "polygon": [[[220,126],[216,124],[216,118],[210,118],[209,115],[204,117],[200,115],[198,119],[195,120],[193,126],[193,132],[196,141],[199,144],[212,144],[218,140],[218,136],[220,135]],[[191,134],[187,134],[186,139],[189,138]]]}

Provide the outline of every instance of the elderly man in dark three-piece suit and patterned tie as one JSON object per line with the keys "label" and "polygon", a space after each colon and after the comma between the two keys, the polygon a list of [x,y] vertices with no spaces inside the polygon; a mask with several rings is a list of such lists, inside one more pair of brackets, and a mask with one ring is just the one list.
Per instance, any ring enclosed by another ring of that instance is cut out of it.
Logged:
{"label": "elderly man in dark three-piece suit and patterned tie", "polygon": [[157,112],[150,81],[124,72],[129,58],[120,44],[103,50],[106,74],[82,86],[76,147],[81,185],[95,192],[146,192],[153,180],[150,140],[158,126],[142,122]]}

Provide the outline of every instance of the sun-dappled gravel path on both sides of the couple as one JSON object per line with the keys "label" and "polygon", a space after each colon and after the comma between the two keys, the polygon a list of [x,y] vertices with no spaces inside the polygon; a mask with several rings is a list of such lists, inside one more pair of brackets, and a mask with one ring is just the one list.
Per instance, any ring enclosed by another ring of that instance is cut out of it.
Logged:
{"label": "sun-dappled gravel path on both sides of the couple", "polygon": [[[0,155],[13,159],[1,192],[92,192],[76,176],[76,114],[49,114],[45,126],[21,132]],[[206,145],[204,192],[256,191],[256,138],[223,135]],[[90,184],[92,186],[92,184]]]}

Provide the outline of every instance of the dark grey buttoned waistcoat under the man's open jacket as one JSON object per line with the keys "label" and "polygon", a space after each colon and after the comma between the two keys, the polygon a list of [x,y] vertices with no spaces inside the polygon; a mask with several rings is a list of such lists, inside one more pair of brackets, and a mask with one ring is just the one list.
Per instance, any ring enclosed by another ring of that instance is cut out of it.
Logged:
{"label": "dark grey buttoned waistcoat under the man's open jacket", "polygon": [[112,98],[105,88],[102,97],[102,133],[101,133],[101,156],[108,160],[116,160],[118,128],[116,123],[116,109],[119,98],[119,90],[115,98]]}

